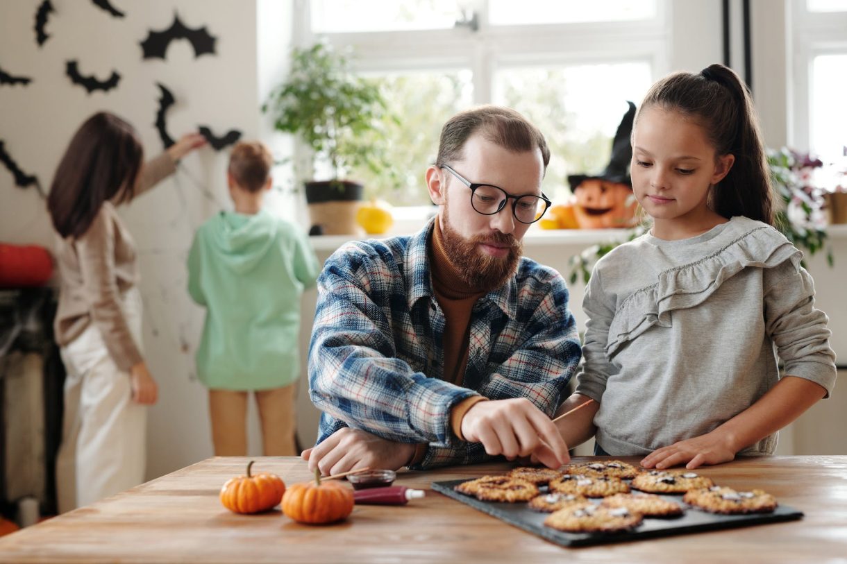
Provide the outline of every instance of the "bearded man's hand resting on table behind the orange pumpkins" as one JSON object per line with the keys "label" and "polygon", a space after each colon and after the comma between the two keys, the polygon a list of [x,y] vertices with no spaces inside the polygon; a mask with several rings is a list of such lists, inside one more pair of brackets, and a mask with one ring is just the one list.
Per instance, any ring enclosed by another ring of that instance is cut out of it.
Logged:
{"label": "bearded man's hand resting on table behind the orange pumpkins", "polygon": [[409,462],[415,447],[413,443],[396,443],[345,427],[329,435],[320,445],[306,449],[300,456],[308,461],[309,470],[318,468],[322,475],[329,476],[365,467],[396,470]]}

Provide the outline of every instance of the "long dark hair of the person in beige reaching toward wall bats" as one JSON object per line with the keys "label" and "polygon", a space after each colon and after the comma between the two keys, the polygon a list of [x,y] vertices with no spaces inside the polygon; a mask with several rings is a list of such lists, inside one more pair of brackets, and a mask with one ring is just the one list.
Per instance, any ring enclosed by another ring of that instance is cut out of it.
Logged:
{"label": "long dark hair of the person in beige reaching toward wall bats", "polygon": [[80,125],[58,163],[47,210],[62,237],[84,235],[103,202],[135,196],[144,151],[133,127],[113,113]]}

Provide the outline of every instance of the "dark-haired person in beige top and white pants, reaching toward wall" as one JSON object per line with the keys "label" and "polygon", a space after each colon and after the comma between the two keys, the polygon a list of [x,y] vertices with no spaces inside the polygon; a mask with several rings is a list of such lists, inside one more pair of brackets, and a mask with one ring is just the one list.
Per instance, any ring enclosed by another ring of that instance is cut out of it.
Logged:
{"label": "dark-haired person in beige top and white pants, reaching toward wall", "polygon": [[68,373],[56,463],[61,512],[144,481],[144,406],[156,402],[158,388],[141,357],[135,246],[113,202],[152,188],[204,143],[185,135],[142,166],[132,126],[96,113],[56,169],[47,208],[61,275],[54,331]]}

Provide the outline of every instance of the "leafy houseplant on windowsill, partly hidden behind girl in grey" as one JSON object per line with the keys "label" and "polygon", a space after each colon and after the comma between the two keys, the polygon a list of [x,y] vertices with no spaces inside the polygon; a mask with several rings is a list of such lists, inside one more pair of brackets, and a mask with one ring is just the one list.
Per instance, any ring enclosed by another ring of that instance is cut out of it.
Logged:
{"label": "leafy houseplant on windowsill, partly hidden behind girl in grey", "polygon": [[[823,165],[817,158],[783,147],[767,150],[767,165],[777,204],[776,228],[807,256],[827,252],[827,262],[833,266],[833,251],[827,245],[827,226],[822,208],[824,191],[811,181],[811,171]],[[570,259],[570,282],[582,279],[588,284],[594,263],[616,246],[644,235],[649,226],[640,224],[631,229],[625,239],[590,246]]]}

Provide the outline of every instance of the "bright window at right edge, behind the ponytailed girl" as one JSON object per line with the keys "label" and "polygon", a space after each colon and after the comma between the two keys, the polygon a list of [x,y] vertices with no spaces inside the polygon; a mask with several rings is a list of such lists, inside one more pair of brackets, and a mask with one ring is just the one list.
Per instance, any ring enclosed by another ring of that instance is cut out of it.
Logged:
{"label": "bright window at right edge, behind the ponytailed girl", "polygon": [[824,163],[847,151],[841,81],[847,73],[847,0],[793,0],[794,91],[789,143]]}

